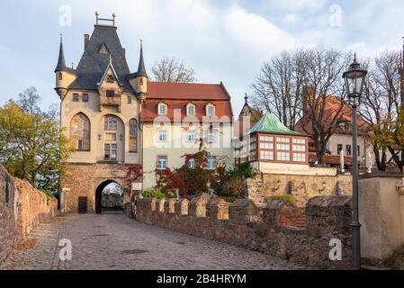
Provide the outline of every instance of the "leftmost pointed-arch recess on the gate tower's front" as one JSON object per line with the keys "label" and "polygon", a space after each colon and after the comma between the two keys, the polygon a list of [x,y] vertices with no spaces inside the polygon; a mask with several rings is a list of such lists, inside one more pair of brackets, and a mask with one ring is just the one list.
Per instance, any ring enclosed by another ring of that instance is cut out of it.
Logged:
{"label": "leftmost pointed-arch recess on the gate tower's front", "polygon": [[70,121],[70,141],[76,151],[90,151],[90,120],[80,112]]}

